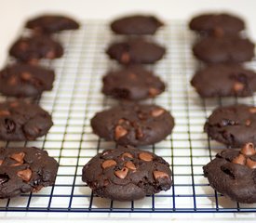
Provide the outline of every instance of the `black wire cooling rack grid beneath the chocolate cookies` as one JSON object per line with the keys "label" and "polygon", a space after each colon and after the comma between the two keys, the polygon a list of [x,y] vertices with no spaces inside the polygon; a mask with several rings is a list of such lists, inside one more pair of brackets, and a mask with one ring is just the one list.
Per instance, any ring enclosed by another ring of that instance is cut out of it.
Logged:
{"label": "black wire cooling rack grid beneath the chocolate cookies", "polygon": [[[202,166],[214,158],[223,146],[203,132],[206,118],[220,105],[243,102],[255,104],[255,98],[202,99],[189,85],[198,62],[191,54],[195,36],[183,21],[172,20],[154,37],[167,46],[165,59],[154,70],[168,84],[168,90],[155,102],[172,113],[175,128],[171,136],[144,150],[164,157],[173,171],[174,185],[168,191],[140,201],[113,202],[94,195],[82,182],[84,164],[98,152],[115,147],[98,138],[89,122],[95,112],[113,106],[116,101],[101,94],[101,76],[116,66],[104,54],[106,46],[120,38],[102,21],[85,21],[78,31],[55,36],[65,48],[61,59],[43,65],[56,72],[54,89],[40,98],[40,105],[52,114],[54,125],[44,138],[1,146],[36,146],[48,151],[60,164],[55,185],[37,193],[0,201],[0,211],[34,212],[256,212],[256,204],[230,201],[209,187]],[[256,68],[252,61],[249,67]],[[4,100],[1,97],[1,100]]]}

